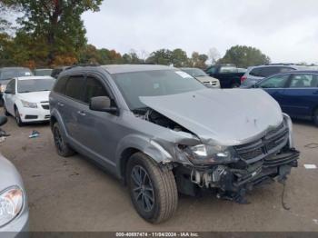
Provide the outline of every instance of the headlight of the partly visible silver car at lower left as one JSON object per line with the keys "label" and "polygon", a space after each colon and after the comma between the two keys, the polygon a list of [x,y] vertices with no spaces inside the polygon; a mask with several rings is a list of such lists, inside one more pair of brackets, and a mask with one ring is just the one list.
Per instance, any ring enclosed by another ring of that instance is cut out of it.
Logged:
{"label": "headlight of the partly visible silver car at lower left", "polygon": [[10,223],[21,213],[24,205],[24,193],[14,186],[0,193],[0,227]]}

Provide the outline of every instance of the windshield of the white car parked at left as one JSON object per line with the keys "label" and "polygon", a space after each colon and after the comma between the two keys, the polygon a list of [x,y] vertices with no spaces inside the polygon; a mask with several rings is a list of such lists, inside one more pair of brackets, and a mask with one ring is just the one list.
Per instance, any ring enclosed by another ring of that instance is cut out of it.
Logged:
{"label": "windshield of the white car parked at left", "polygon": [[55,79],[53,78],[19,80],[17,83],[17,92],[23,94],[40,91],[51,91],[53,84],[55,84]]}

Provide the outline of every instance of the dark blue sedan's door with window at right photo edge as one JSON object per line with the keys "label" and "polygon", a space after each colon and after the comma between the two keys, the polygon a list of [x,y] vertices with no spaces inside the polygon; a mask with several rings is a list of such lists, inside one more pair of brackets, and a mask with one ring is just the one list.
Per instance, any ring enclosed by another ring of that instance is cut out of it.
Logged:
{"label": "dark blue sedan's door with window at right photo edge", "polygon": [[292,74],[283,93],[284,112],[293,117],[311,117],[318,105],[318,74]]}

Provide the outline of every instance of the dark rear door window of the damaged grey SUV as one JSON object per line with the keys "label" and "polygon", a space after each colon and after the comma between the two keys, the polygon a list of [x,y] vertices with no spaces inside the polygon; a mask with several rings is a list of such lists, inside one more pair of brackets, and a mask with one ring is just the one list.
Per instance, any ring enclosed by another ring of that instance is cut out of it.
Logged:
{"label": "dark rear door window of the damaged grey SUV", "polygon": [[84,76],[70,76],[65,87],[65,95],[83,101]]}

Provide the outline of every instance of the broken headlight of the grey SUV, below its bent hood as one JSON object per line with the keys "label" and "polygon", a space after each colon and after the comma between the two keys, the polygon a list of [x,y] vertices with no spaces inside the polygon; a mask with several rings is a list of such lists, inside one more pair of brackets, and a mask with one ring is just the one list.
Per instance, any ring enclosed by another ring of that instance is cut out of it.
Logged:
{"label": "broken headlight of the grey SUV, below its bent hood", "polygon": [[197,144],[194,146],[179,145],[179,148],[194,164],[230,164],[237,162],[232,147]]}

